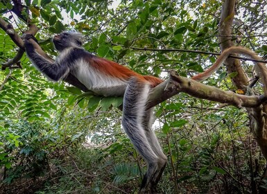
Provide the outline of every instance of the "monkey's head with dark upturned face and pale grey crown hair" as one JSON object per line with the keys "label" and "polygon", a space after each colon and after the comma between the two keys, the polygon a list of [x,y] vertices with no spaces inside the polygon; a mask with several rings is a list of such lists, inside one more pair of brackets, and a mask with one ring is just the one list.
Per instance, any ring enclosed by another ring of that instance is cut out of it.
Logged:
{"label": "monkey's head with dark upturned face and pale grey crown hair", "polygon": [[81,33],[64,32],[53,37],[53,44],[55,45],[55,49],[61,52],[65,48],[80,48],[82,46],[82,39],[83,35]]}

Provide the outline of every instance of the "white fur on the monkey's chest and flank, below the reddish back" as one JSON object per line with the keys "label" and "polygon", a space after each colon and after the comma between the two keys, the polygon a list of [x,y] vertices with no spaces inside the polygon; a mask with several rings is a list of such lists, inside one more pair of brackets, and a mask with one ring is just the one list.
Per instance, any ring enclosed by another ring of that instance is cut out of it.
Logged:
{"label": "white fur on the monkey's chest and flank, below the reddish back", "polygon": [[74,75],[87,89],[103,96],[123,96],[127,81],[106,75],[94,69],[85,60],[76,62]]}

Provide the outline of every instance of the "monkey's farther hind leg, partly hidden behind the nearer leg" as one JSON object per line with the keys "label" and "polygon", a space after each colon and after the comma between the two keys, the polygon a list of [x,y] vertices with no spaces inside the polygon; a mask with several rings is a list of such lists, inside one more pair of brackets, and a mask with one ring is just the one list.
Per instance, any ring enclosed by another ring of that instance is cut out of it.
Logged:
{"label": "monkey's farther hind leg, partly hidden behind the nearer leg", "polygon": [[150,143],[150,146],[157,155],[157,157],[159,157],[159,160],[157,161],[157,169],[153,175],[153,179],[151,180],[150,184],[150,190],[153,193],[156,193],[157,183],[160,181],[160,177],[162,177],[162,173],[167,163],[167,157],[166,155],[164,155],[160,143],[157,140],[157,136],[155,136],[155,132],[152,129],[153,122],[153,108],[151,108],[148,109],[144,115],[143,125],[144,130],[146,132],[146,138],[148,139],[148,142]]}

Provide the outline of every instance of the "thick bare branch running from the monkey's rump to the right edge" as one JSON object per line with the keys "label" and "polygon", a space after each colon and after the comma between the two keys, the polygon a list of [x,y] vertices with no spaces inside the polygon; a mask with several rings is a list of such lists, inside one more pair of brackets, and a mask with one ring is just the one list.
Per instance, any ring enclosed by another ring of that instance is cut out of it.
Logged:
{"label": "thick bare branch running from the monkey's rump to the right edge", "polygon": [[218,103],[226,103],[235,107],[259,107],[266,102],[267,96],[245,96],[236,94],[233,91],[223,91],[216,87],[204,85],[203,83],[178,76],[175,71],[171,71],[171,77],[162,84],[155,87],[149,96],[148,108],[162,103],[164,100],[184,92],[196,98],[212,100]]}

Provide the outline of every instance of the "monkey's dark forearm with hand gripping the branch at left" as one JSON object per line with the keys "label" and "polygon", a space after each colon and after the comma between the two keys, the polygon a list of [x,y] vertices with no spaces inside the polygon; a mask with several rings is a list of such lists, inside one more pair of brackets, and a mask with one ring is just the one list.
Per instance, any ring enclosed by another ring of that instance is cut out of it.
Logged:
{"label": "monkey's dark forearm with hand gripping the branch at left", "polygon": [[52,62],[52,60],[49,60],[49,58],[44,58],[35,51],[35,47],[31,41],[33,40],[26,39],[24,46],[26,48],[28,57],[31,59],[37,69],[54,81],[58,81],[68,75],[69,67],[67,65],[58,64],[57,62]]}

